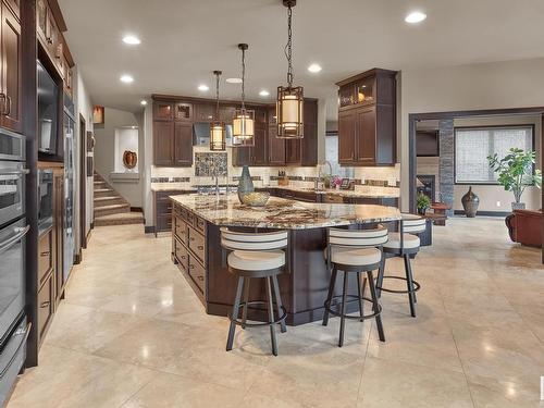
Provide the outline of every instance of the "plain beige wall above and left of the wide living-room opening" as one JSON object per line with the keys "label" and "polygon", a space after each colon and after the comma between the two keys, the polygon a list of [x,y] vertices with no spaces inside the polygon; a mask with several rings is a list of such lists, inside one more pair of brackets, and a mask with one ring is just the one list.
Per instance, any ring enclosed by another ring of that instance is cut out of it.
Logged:
{"label": "plain beige wall above and left of the wide living-room opening", "polygon": [[544,58],[404,71],[400,92],[401,207],[409,207],[410,113],[544,107]]}

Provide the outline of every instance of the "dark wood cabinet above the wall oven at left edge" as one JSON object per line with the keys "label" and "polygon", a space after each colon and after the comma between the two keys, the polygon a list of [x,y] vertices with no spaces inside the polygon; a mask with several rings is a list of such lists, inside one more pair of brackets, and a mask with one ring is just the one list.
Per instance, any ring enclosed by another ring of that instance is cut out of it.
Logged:
{"label": "dark wood cabinet above the wall oven at left edge", "polygon": [[22,132],[22,42],[21,23],[12,9],[1,3],[1,46],[2,61],[0,90],[0,124],[14,132]]}

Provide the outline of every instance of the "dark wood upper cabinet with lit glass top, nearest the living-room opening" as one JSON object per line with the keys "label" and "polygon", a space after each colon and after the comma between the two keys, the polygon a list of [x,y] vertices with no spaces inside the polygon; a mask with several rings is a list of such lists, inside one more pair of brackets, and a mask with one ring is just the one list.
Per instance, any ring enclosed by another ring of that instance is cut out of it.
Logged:
{"label": "dark wood upper cabinet with lit glass top, nearest the living-room opening", "polygon": [[336,84],[341,164],[395,164],[396,74],[374,69]]}

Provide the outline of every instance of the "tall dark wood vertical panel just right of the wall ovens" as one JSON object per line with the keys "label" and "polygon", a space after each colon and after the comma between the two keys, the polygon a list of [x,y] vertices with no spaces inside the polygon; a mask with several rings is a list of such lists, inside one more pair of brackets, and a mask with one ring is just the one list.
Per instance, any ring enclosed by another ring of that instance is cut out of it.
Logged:
{"label": "tall dark wood vertical panel just right of the wall ovens", "polygon": [[26,344],[26,367],[38,364],[38,140],[37,140],[37,70],[36,4],[21,2],[23,134],[26,136],[26,221],[30,231],[26,236],[26,317],[32,324]]}

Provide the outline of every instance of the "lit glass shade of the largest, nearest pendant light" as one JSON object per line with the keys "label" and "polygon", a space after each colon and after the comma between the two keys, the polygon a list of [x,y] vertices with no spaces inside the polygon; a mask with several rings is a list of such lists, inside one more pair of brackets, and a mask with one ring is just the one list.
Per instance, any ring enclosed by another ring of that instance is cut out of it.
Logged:
{"label": "lit glass shade of the largest, nearest pendant light", "polygon": [[302,87],[277,87],[277,137],[301,139],[304,137],[304,89]]}

